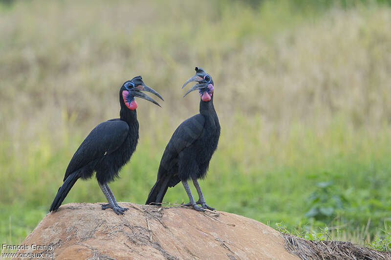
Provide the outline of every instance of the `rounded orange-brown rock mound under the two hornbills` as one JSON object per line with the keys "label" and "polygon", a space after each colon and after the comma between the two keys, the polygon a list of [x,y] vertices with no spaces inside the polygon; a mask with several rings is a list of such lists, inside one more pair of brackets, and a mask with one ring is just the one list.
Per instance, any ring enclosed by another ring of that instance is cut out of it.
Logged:
{"label": "rounded orange-brown rock mound under the two hornbills", "polygon": [[[49,213],[17,253],[55,259],[281,259],[298,260],[267,225],[226,212],[119,203],[122,216],[99,203],[70,203]],[[218,215],[218,216],[217,216]],[[31,249],[31,245],[49,245]]]}

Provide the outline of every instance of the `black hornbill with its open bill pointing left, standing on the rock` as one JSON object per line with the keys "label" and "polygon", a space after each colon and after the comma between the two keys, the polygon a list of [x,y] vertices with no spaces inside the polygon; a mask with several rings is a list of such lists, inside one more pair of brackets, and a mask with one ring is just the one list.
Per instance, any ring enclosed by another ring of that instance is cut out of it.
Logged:
{"label": "black hornbill with its open bill pointing left, standing on the rock", "polygon": [[[220,124],[213,106],[214,83],[212,77],[200,67],[195,67],[195,71],[195,76],[187,80],[182,88],[189,82],[198,82],[186,92],[185,96],[198,90],[201,97],[199,114],[183,121],[176,128],[163,153],[157,172],[157,180],[146,204],[159,205],[168,187],[174,187],[182,181],[190,200],[185,205],[192,205],[197,211],[204,211],[205,208],[214,210],[206,204],[197,179],[204,178],[206,175],[209,161],[217,148]],[[193,180],[197,190],[199,197],[197,202],[195,202],[187,183],[189,179]],[[201,207],[196,204],[200,204]]]}

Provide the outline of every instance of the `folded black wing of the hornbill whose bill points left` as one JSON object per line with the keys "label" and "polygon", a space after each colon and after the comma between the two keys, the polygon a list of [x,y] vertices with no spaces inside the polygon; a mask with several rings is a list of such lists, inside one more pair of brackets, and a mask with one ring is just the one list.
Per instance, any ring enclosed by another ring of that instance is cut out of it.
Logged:
{"label": "folded black wing of the hornbill whose bill points left", "polygon": [[184,120],[178,128],[176,128],[173,136],[167,144],[162,160],[160,161],[160,167],[167,170],[170,169],[172,164],[176,163],[178,154],[200,137],[202,129],[204,128],[204,123],[205,118],[201,114],[197,114],[187,120]]}

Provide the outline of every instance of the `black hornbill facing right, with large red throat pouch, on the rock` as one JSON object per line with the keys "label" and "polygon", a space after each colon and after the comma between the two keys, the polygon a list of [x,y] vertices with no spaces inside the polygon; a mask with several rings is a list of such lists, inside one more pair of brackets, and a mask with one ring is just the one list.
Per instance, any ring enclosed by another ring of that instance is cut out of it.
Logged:
{"label": "black hornbill facing right, with large red throat pouch, on the rock", "polygon": [[149,100],[160,106],[155,100],[142,93],[142,90],[151,92],[163,100],[156,91],[144,84],[141,76],[125,81],[119,91],[120,118],[98,124],[82,142],[66,168],[64,183],[59,188],[50,211],[56,211],[60,207],[76,180],[88,179],[94,172],[99,187],[109,202],[102,204],[102,209],[111,208],[118,215],[128,210],[117,204],[107,183],[118,177],[119,170],[130,160],[136,149],[138,121],[137,103],[134,98]]}

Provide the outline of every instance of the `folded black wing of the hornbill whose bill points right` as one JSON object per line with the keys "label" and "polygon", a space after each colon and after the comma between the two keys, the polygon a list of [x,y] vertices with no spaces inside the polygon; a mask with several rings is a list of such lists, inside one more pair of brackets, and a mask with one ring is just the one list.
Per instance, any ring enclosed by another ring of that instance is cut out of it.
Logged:
{"label": "folded black wing of the hornbill whose bill points right", "polygon": [[117,150],[125,141],[129,126],[122,120],[108,120],[98,124],[80,144],[65,171],[66,178],[92,160]]}

